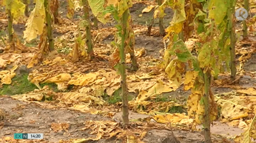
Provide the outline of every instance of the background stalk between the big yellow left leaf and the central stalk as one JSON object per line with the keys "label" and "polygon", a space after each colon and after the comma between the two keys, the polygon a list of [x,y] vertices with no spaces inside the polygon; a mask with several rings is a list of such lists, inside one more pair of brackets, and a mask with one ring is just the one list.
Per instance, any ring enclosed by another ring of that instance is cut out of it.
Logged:
{"label": "background stalk between the big yellow left leaf and the central stalk", "polygon": [[86,44],[87,44],[87,54],[89,57],[93,56],[93,44],[92,44],[92,35],[91,35],[91,25],[89,20],[89,4],[87,0],[83,0],[84,4],[84,20],[87,20],[88,25],[86,26]]}

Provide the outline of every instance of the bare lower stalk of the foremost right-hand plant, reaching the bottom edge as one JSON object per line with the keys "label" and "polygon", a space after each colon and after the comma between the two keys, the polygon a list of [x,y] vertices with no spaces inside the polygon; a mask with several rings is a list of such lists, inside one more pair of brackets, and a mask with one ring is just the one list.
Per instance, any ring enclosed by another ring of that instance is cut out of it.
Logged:
{"label": "bare lower stalk of the foremost right-hand plant, reaching the bottom edge", "polygon": [[211,143],[210,120],[210,72],[204,74],[204,138],[205,143]]}

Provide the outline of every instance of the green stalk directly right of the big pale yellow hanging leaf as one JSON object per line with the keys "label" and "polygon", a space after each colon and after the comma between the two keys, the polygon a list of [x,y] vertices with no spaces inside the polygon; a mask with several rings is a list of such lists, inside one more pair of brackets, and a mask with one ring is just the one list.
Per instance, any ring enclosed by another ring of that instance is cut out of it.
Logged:
{"label": "green stalk directly right of the big pale yellow hanging leaf", "polygon": [[51,19],[51,11],[50,11],[50,0],[45,0],[45,18],[46,18],[46,28],[47,28],[47,37],[49,42],[50,51],[54,50],[54,39],[52,36],[52,19]]}

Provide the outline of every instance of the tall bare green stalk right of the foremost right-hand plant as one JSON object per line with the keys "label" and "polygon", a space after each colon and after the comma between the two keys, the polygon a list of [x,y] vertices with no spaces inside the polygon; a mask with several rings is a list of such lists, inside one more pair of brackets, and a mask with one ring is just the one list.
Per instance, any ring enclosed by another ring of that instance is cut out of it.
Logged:
{"label": "tall bare green stalk right of the foremost right-hand plant", "polygon": [[236,0],[231,0],[230,5],[228,7],[228,19],[229,19],[229,32],[230,32],[230,38],[231,38],[231,44],[230,44],[230,69],[231,69],[231,80],[236,79],[236,27],[234,22],[234,13],[235,13],[235,5]]}

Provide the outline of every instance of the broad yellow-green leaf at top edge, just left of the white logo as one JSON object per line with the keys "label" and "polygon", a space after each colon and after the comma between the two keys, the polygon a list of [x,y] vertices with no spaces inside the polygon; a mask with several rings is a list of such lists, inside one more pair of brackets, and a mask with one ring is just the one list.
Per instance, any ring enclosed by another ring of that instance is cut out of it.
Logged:
{"label": "broad yellow-green leaf at top edge, just left of the white logo", "polygon": [[230,0],[211,0],[208,6],[209,17],[219,25],[226,16],[227,2]]}

